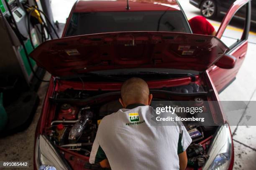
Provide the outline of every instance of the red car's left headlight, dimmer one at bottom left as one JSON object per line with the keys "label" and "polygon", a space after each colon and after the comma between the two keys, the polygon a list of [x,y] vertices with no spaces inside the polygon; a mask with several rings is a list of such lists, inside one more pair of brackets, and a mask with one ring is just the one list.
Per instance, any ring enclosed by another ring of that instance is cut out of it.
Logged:
{"label": "red car's left headlight, dimmer one at bottom left", "polygon": [[67,163],[44,135],[38,135],[35,148],[35,164],[38,170],[68,170]]}

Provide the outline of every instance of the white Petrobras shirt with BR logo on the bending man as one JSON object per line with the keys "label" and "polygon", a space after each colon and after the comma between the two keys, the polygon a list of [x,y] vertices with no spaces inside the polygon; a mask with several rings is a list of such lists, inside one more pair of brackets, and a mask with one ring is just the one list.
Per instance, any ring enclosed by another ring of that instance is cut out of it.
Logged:
{"label": "white Petrobras shirt with BR logo on the bending man", "polygon": [[107,158],[112,170],[179,170],[178,153],[192,142],[186,128],[181,122],[152,125],[155,111],[151,106],[133,107],[101,120],[90,163]]}

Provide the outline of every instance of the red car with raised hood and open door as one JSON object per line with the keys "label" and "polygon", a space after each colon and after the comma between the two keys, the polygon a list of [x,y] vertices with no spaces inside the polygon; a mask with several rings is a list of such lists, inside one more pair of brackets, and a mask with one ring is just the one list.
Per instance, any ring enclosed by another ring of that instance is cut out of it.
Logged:
{"label": "red car with raised hood and open door", "polygon": [[[213,37],[192,34],[176,0],[77,1],[62,38],[31,53],[52,74],[36,129],[34,169],[101,169],[88,161],[97,126],[121,108],[120,87],[130,77],[146,80],[157,101],[218,101],[218,92],[235,79],[246,56],[250,3],[234,2]],[[227,47],[219,38],[244,5],[243,36]],[[193,143],[210,157],[200,166],[190,162],[187,169],[232,170],[228,122],[219,105],[208,109],[212,121],[223,125],[198,127],[205,135]],[[84,122],[80,138],[70,140],[79,121]]]}

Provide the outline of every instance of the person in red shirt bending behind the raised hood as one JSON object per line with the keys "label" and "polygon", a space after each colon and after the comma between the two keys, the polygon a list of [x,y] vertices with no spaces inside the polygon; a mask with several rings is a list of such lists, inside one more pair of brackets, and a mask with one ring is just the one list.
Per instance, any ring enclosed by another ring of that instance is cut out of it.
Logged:
{"label": "person in red shirt bending behind the raised hood", "polygon": [[196,16],[189,20],[189,25],[194,34],[216,35],[214,27],[202,16]]}

